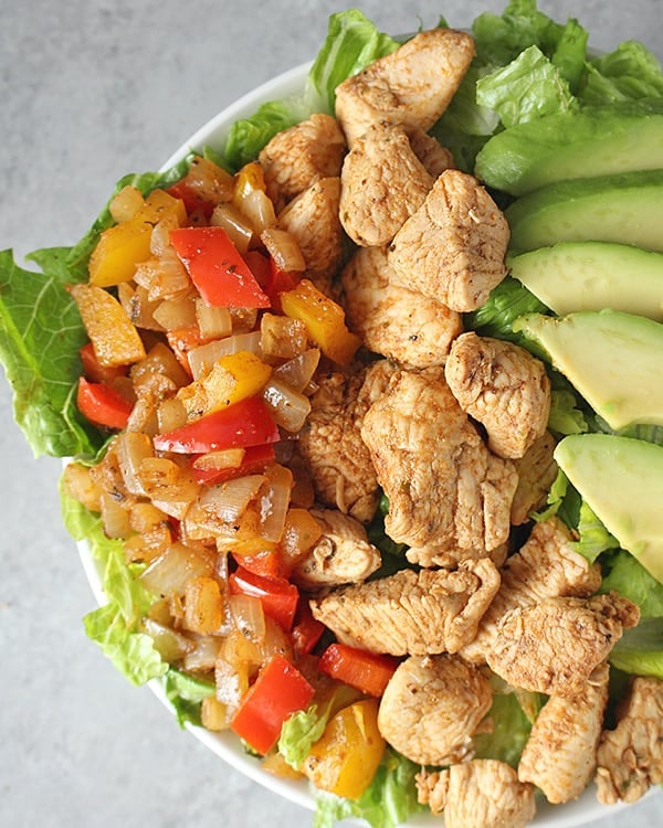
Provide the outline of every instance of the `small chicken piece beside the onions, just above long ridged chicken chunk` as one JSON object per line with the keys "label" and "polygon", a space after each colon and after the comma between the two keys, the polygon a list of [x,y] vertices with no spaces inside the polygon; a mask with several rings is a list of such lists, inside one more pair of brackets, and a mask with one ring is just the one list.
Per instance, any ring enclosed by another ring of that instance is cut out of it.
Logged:
{"label": "small chicken piece beside the onions, just above long ridged chicken chunk", "polygon": [[291,581],[304,590],[357,584],[379,569],[380,552],[364,524],[336,509],[311,509],[323,534],[297,562]]}

